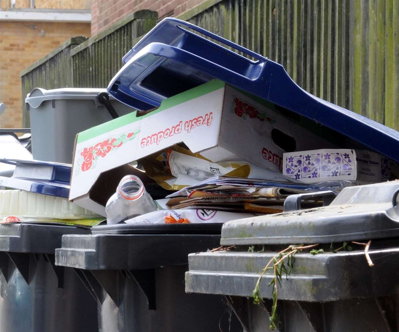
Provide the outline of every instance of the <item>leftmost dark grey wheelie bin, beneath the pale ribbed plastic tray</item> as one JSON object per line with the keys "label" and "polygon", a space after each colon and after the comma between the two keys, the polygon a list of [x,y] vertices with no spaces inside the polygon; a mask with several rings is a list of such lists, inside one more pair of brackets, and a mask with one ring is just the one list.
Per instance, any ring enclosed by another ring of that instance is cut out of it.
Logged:
{"label": "leftmost dark grey wheelie bin, beneath the pale ribbed plastic tray", "polygon": [[97,332],[97,310],[71,268],[55,266],[63,234],[87,228],[0,225],[0,331]]}

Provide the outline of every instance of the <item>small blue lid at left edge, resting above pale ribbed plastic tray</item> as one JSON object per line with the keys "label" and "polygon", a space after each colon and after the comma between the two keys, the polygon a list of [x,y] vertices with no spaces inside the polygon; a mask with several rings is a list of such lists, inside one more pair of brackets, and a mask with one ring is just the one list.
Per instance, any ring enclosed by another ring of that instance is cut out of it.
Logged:
{"label": "small blue lid at left edge, resting above pale ribbed plastic tray", "polygon": [[68,198],[72,165],[17,159],[0,162],[15,165],[12,177],[0,177],[0,186]]}

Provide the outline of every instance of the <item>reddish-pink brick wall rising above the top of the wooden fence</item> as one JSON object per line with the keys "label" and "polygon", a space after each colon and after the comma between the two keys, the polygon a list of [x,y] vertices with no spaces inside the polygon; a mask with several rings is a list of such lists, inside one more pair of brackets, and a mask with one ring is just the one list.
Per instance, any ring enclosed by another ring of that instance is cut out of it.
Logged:
{"label": "reddish-pink brick wall rising above the top of the wooden fence", "polygon": [[158,18],[178,16],[204,0],[93,0],[91,2],[91,35],[112,26],[124,16],[137,10],[158,12]]}

